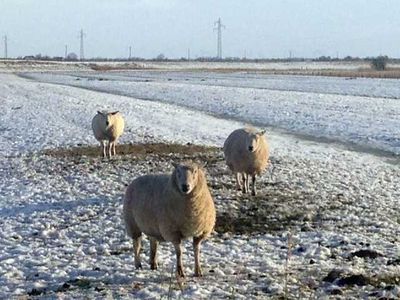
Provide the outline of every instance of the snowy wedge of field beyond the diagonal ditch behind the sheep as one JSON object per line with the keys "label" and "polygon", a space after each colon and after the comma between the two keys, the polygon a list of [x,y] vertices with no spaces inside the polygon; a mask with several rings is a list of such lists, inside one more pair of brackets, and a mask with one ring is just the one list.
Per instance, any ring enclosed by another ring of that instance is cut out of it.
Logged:
{"label": "snowy wedge of field beyond the diagonal ditch behind the sheep", "polygon": [[399,80],[160,71],[27,76],[400,154]]}

